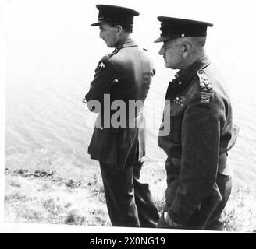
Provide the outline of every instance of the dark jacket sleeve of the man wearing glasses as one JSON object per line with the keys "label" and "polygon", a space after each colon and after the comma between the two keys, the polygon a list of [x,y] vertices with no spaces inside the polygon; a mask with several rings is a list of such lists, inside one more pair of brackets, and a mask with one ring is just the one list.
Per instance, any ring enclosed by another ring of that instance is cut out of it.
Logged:
{"label": "dark jacket sleeve of the man wearing glasses", "polygon": [[[209,101],[204,101],[205,95]],[[176,223],[186,225],[202,199],[216,194],[211,191],[215,191],[224,120],[224,104],[214,93],[194,93],[188,100],[182,124],[179,186],[168,211]]]}

